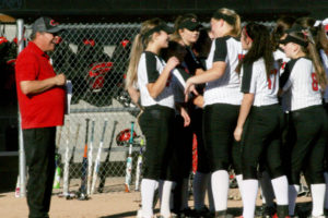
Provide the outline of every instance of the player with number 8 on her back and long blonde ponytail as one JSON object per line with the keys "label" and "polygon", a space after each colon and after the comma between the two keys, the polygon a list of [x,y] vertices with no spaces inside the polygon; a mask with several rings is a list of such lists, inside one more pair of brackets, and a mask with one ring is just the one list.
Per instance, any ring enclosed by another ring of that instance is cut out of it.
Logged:
{"label": "player with number 8 on her back and long blonde ponytail", "polygon": [[289,169],[289,213],[294,215],[300,172],[304,170],[306,181],[311,184],[312,216],[320,217],[324,215],[324,158],[328,133],[320,89],[326,87],[326,73],[318,60],[311,32],[294,26],[286,33],[285,39],[280,43],[284,45],[286,57],[292,60],[286,65],[288,72],[284,72],[289,77],[282,90],[290,90],[290,131],[295,137]]}

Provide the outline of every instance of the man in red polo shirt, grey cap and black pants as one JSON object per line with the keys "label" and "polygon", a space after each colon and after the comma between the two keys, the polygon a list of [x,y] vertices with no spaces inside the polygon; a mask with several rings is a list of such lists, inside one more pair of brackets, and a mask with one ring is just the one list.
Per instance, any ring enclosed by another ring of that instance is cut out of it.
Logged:
{"label": "man in red polo shirt, grey cap and black pants", "polygon": [[61,31],[49,17],[33,24],[31,41],[15,66],[23,140],[28,167],[30,218],[46,218],[55,174],[56,126],[63,124],[66,76],[56,74],[46,51],[52,51]]}

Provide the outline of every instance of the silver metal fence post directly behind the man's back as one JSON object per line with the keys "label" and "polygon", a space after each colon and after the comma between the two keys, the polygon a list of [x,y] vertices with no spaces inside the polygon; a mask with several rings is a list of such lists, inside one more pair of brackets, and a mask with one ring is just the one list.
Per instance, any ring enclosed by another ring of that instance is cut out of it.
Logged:
{"label": "silver metal fence post directly behind the man's back", "polygon": [[[16,21],[17,26],[17,55],[23,50],[24,48],[24,20],[19,19]],[[20,108],[20,107],[19,107]],[[25,179],[26,179],[26,162],[25,162],[25,153],[24,153],[24,142],[23,142],[23,132],[22,132],[22,119],[20,109],[17,111],[19,113],[19,144],[20,144],[20,177],[19,177],[19,183],[20,183],[20,197],[25,197],[26,195],[26,185],[25,185]]]}

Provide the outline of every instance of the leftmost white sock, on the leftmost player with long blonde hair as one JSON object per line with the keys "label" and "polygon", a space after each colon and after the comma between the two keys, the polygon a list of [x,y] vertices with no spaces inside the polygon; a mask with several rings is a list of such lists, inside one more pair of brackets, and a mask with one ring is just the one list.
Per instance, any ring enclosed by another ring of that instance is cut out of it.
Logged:
{"label": "leftmost white sock, on the leftmost player with long blonde hair", "polygon": [[156,180],[142,179],[141,181],[141,208],[143,218],[152,218],[154,192],[157,186]]}

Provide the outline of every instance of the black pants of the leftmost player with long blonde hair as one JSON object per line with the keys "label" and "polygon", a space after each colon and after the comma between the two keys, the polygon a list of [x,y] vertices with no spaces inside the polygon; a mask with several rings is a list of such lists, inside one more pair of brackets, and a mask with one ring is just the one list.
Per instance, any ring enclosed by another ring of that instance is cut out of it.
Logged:
{"label": "black pants of the leftmost player with long blonde hair", "polygon": [[144,108],[140,126],[147,141],[144,153],[144,179],[167,180],[173,149],[173,109],[154,105]]}

